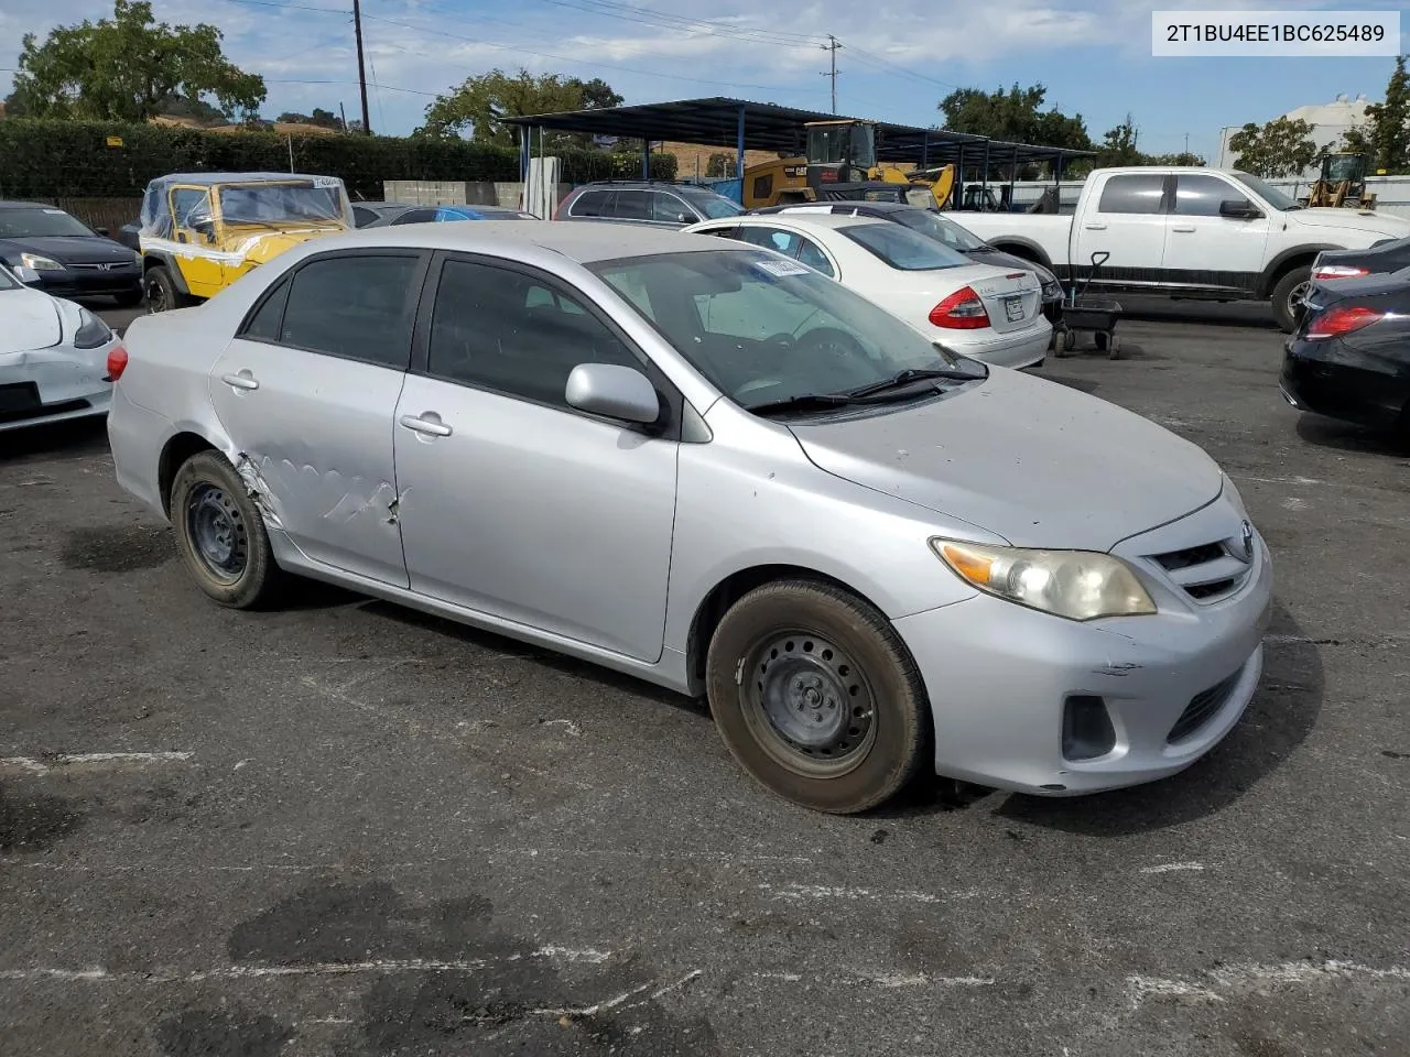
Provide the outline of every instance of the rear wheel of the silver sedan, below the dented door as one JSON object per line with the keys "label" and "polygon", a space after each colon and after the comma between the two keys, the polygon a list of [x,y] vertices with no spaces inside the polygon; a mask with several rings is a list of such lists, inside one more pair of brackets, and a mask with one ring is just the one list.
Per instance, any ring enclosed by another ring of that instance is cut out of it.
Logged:
{"label": "rear wheel of the silver sedan, below the dented door", "polygon": [[182,564],[210,599],[257,609],[279,596],[288,575],[275,564],[259,509],[223,455],[202,451],[176,471],[171,521]]}

